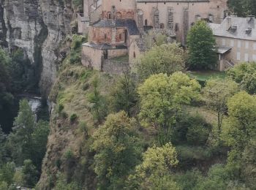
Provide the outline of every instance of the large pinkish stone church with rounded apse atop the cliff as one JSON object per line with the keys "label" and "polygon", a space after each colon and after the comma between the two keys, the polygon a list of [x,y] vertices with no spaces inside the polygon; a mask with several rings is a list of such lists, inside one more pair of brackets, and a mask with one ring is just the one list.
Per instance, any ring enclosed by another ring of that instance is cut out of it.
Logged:
{"label": "large pinkish stone church with rounded apse atop the cliff", "polygon": [[145,52],[143,35],[151,29],[167,31],[186,45],[189,27],[201,19],[221,23],[226,4],[227,0],[84,0],[89,42],[83,44],[82,63],[104,71],[110,59],[127,56],[123,65],[129,66]]}

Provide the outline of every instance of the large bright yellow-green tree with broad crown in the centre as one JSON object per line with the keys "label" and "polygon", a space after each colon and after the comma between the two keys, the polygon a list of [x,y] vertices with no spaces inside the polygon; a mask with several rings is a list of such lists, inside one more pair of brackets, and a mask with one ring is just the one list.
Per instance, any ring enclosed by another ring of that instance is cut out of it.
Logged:
{"label": "large bright yellow-green tree with broad crown in the centre", "polygon": [[182,72],[171,76],[151,75],[140,87],[140,120],[143,126],[157,129],[159,142],[170,142],[170,132],[182,104],[199,96],[200,85]]}

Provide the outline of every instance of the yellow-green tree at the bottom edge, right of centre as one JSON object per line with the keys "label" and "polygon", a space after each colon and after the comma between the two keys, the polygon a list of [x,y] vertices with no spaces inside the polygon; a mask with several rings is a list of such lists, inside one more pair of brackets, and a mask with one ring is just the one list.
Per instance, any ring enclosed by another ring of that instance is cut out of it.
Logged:
{"label": "yellow-green tree at the bottom edge, right of centre", "polygon": [[170,143],[148,148],[143,153],[143,162],[129,175],[129,189],[179,189],[171,178],[177,164],[176,149]]}

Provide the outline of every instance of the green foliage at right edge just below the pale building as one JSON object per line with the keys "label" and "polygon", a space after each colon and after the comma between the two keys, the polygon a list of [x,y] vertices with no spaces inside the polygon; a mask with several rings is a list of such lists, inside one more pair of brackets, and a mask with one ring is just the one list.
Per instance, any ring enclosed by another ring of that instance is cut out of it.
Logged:
{"label": "green foliage at right edge just below the pale building", "polygon": [[236,83],[240,84],[241,89],[249,94],[256,93],[256,62],[237,64],[227,71],[227,75]]}

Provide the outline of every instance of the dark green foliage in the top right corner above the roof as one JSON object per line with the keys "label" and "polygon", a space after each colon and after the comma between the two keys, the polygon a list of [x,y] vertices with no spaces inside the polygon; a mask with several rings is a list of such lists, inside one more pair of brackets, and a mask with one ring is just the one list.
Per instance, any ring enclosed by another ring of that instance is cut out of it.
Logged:
{"label": "dark green foliage in the top right corner above the roof", "polygon": [[255,0],[229,0],[228,7],[233,10],[239,17],[256,15]]}

